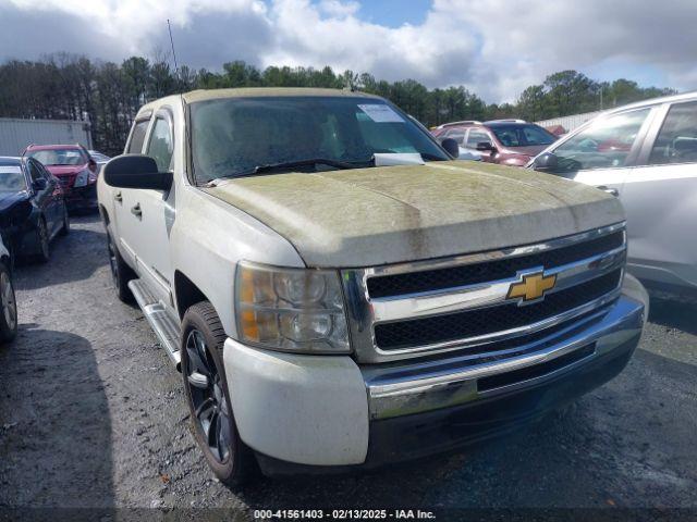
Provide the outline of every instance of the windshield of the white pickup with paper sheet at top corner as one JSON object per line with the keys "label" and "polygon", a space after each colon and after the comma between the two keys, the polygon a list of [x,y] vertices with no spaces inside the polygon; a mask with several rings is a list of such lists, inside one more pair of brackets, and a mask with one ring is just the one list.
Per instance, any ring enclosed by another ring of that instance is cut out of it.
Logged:
{"label": "windshield of the white pickup with paper sheet at top corner", "polygon": [[371,98],[200,101],[191,105],[191,122],[194,173],[199,183],[305,160],[330,163],[309,161],[289,166],[285,172],[367,164],[376,153],[420,153],[425,160],[449,159],[407,116]]}

